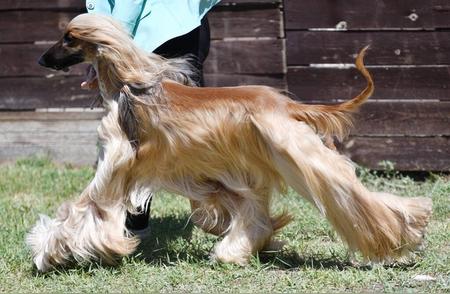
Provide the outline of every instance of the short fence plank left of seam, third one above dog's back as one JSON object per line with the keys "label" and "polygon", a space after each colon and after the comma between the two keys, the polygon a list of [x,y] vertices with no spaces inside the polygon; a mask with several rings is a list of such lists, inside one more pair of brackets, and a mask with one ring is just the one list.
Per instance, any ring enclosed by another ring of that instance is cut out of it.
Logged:
{"label": "short fence plank left of seam, third one above dog's back", "polygon": [[282,14],[278,8],[227,8],[209,13],[212,39],[272,37],[283,35]]}

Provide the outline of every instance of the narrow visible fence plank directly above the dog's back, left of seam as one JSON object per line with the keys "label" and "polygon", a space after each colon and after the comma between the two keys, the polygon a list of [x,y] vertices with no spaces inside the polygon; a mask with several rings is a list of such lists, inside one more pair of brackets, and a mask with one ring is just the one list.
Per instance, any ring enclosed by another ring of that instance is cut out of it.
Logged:
{"label": "narrow visible fence plank directly above the dog's back, left of seam", "polygon": [[278,89],[286,89],[284,75],[243,75],[211,73],[205,75],[205,84],[208,87],[231,87],[241,85],[265,85]]}

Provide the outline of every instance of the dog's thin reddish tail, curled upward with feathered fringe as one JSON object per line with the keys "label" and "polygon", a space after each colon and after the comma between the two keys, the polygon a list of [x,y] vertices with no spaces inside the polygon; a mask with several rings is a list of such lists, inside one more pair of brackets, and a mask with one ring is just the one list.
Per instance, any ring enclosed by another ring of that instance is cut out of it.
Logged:
{"label": "dog's thin reddish tail, curled upward with feathered fringe", "polygon": [[336,136],[344,139],[352,126],[351,114],[367,101],[374,91],[372,76],[364,66],[364,55],[368,46],[363,48],[356,58],[356,68],[366,78],[367,86],[353,99],[337,105],[313,105],[290,102],[289,114],[299,121],[304,121],[325,137]]}

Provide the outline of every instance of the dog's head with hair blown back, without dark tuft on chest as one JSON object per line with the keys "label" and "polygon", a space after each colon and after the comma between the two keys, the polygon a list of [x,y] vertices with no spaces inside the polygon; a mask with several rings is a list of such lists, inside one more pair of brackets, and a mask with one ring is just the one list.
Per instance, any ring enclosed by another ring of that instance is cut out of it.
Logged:
{"label": "dog's head with hair blown back, without dark tuft on chest", "polygon": [[104,76],[116,89],[124,85],[152,88],[163,78],[195,85],[192,78],[198,75],[193,59],[169,61],[145,52],[120,22],[100,14],[80,14],[72,19],[62,38],[39,59],[40,65],[56,70],[67,70],[82,62],[101,64],[107,71]]}

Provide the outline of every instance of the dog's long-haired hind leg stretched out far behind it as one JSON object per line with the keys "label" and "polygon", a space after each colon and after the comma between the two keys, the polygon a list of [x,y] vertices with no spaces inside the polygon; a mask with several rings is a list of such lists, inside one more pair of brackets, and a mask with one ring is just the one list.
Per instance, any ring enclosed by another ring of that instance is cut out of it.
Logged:
{"label": "dog's long-haired hind leg stretched out far behind it", "polygon": [[352,251],[390,260],[421,244],[430,199],[368,191],[351,162],[324,146],[304,123],[273,115],[259,117],[255,125],[288,185],[315,204]]}

